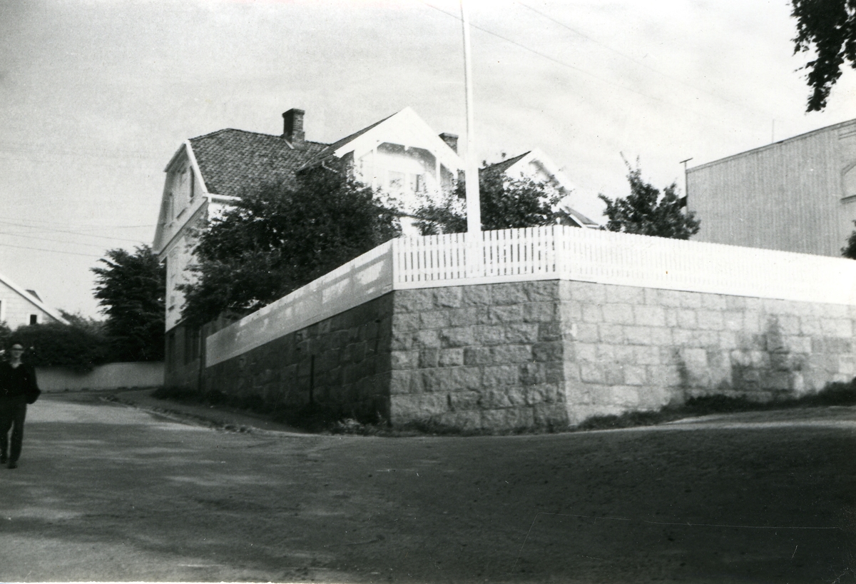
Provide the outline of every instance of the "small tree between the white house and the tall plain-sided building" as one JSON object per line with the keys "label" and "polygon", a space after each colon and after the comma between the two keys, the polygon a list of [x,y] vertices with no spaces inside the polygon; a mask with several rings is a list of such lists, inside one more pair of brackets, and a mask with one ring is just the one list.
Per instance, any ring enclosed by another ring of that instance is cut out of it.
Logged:
{"label": "small tree between the white house and the tall plain-sided building", "polygon": [[638,161],[635,169],[627,160],[624,163],[627,165],[630,194],[615,200],[603,194],[597,195],[606,203],[603,215],[609,221],[604,229],[672,239],[689,239],[698,233],[699,221],[694,213],[683,211],[684,202],[678,197],[674,182],[663,189],[661,197],[659,189],[642,180]]}

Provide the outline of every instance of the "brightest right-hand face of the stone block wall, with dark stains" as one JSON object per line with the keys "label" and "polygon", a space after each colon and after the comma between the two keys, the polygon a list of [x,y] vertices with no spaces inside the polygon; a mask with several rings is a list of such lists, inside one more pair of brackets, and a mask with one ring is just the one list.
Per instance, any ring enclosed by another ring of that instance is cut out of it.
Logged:
{"label": "brightest right-hand face of the stone block wall, with dark stains", "polygon": [[572,423],[692,396],[801,396],[856,373],[856,307],[580,282],[561,290]]}

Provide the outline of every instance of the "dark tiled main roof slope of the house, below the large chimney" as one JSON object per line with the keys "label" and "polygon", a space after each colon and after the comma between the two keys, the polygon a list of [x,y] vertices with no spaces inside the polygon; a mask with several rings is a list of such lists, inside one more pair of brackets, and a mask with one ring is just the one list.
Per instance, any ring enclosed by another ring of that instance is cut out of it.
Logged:
{"label": "dark tiled main roof slope of the house, below the large chimney", "polygon": [[307,140],[295,149],[281,136],[231,128],[191,138],[190,144],[208,192],[233,197],[247,188],[292,178],[327,146]]}

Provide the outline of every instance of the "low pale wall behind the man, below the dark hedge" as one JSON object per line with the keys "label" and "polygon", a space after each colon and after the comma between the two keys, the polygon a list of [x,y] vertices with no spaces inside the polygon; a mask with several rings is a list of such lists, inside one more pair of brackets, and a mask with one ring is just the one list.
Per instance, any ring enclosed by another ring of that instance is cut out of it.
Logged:
{"label": "low pale wall behind the man, below the dark hedge", "polygon": [[42,391],[115,390],[120,387],[163,385],[163,362],[108,363],[90,372],[65,367],[36,367]]}

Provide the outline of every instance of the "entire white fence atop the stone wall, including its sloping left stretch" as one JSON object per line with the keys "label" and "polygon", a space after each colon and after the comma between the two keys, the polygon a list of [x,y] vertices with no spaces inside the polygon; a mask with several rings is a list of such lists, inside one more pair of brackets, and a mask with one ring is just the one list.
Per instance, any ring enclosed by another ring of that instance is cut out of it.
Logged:
{"label": "entire white fence atop the stone wall, including its sloping left stretch", "polygon": [[565,279],[856,305],[856,261],[551,225],[402,237],[208,337],[206,366],[393,289]]}

